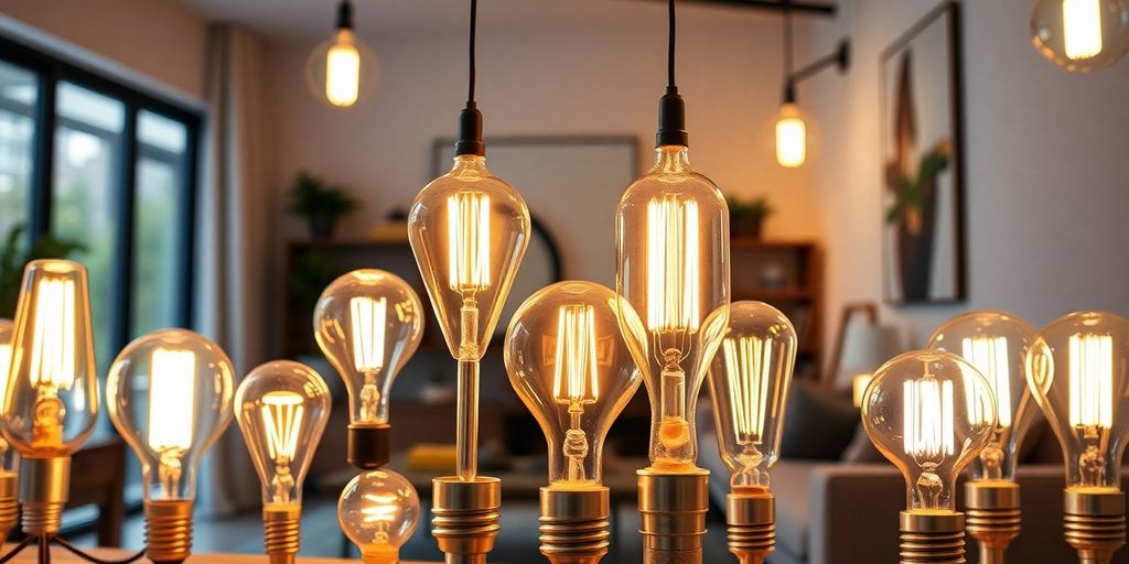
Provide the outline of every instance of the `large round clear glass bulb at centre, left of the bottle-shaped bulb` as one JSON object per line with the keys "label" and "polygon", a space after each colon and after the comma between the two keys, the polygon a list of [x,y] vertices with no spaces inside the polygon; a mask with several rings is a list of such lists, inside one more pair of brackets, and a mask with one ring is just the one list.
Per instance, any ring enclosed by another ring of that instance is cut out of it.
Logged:
{"label": "large round clear glass bulb at centre, left of the bottle-shaped bulb", "polygon": [[631,306],[594,282],[543,288],[514,315],[506,337],[509,381],[549,443],[549,484],[598,486],[604,438],[639,388],[639,372],[620,334]]}

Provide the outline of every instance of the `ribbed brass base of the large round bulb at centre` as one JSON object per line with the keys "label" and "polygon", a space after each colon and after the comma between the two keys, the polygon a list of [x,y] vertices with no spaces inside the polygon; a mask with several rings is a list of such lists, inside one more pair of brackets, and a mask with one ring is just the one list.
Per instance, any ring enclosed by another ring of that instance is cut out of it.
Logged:
{"label": "ribbed brass base of the large round bulb at centre", "polygon": [[541,488],[541,554],[552,564],[596,564],[610,546],[607,488]]}

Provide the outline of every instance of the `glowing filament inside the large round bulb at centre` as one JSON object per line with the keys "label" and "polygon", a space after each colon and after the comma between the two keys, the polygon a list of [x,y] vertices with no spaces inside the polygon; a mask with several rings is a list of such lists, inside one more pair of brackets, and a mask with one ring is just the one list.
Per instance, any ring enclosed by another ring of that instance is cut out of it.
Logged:
{"label": "glowing filament inside the large round bulb at centre", "polygon": [[592,306],[563,306],[557,317],[553,394],[562,404],[590,404],[596,384],[596,319]]}

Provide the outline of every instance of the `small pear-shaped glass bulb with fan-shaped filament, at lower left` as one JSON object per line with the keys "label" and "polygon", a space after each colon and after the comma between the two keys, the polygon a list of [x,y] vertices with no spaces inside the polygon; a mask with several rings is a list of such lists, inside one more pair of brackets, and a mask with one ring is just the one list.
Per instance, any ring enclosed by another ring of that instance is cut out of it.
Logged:
{"label": "small pear-shaped glass bulb with fan-shaped filament, at lower left", "polygon": [[268,362],[243,379],[235,417],[259,470],[264,508],[301,504],[301,484],[331,404],[325,380],[298,362]]}

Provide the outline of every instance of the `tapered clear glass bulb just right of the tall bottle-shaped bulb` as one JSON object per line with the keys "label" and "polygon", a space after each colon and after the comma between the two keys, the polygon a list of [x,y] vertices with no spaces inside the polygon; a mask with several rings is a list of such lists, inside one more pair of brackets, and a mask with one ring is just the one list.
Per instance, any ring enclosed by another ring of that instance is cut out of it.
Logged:
{"label": "tapered clear glass bulb just right of the tall bottle-shaped bulb", "polygon": [[760,301],[729,306],[729,325],[709,371],[721,460],[734,492],[768,490],[780,457],[780,430],[791,372],[796,329]]}

